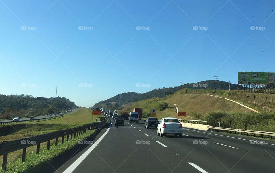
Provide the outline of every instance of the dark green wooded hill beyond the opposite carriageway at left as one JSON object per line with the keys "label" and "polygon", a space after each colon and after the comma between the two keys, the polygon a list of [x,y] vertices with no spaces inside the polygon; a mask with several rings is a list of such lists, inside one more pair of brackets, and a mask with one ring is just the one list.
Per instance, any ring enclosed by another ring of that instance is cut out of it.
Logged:
{"label": "dark green wooded hill beyond the opposite carriageway at left", "polygon": [[0,95],[0,118],[15,116],[36,116],[53,113],[54,110],[65,111],[76,107],[74,102],[65,97],[51,97],[46,101],[36,100],[32,95]]}

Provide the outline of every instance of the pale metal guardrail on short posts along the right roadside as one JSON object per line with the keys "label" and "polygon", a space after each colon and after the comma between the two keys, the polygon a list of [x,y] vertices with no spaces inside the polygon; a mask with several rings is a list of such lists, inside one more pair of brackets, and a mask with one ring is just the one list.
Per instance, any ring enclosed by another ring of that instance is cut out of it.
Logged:
{"label": "pale metal guardrail on short posts along the right roadside", "polygon": [[264,132],[264,131],[254,131],[254,130],[242,130],[242,129],[234,129],[234,128],[223,128],[223,127],[212,127],[209,126],[209,129],[211,129],[211,131],[218,131],[219,132],[227,132],[229,131],[229,133],[234,132],[235,134],[240,133],[241,135],[243,133],[246,133],[247,136],[249,136],[249,134],[253,134],[254,137],[256,137],[256,134],[259,134],[262,136],[262,138],[264,138],[264,136],[270,136],[270,139],[272,139],[272,136],[275,136],[274,132]]}

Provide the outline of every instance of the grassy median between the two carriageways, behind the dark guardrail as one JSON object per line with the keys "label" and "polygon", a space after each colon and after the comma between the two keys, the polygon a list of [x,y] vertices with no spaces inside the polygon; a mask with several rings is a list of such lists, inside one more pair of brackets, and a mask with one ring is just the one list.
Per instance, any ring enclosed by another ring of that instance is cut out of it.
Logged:
{"label": "grassy median between the two carriageways, behind the dark guardrail", "polygon": [[[102,115],[101,115],[102,116]],[[50,132],[55,132],[58,130],[65,130],[68,128],[74,128],[78,126],[83,126],[86,124],[91,124],[95,122],[96,117],[92,116],[92,110],[88,108],[80,108],[72,113],[66,114],[63,117],[39,121],[39,122],[27,122],[27,123],[17,123],[17,124],[6,124],[0,126],[1,130],[9,130],[9,135],[1,136],[0,142],[12,141],[22,138],[28,138],[36,136],[37,134],[46,134]],[[85,134],[86,135],[86,134]],[[59,141],[61,138],[59,139]],[[50,141],[51,147],[54,148],[55,140]],[[71,143],[70,143],[71,144]],[[40,144],[40,150],[44,150],[47,146],[47,142]],[[59,147],[59,146],[58,146]],[[60,147],[62,147],[60,145]],[[27,156],[36,153],[36,145],[27,148]],[[40,153],[40,155],[42,155]],[[11,152],[8,154],[8,163],[21,162],[22,150]],[[3,160],[3,156],[0,156],[0,161]]]}

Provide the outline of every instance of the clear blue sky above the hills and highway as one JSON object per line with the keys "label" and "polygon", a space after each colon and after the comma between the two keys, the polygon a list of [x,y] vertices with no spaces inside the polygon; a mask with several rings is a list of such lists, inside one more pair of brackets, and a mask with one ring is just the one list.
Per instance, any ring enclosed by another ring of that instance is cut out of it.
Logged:
{"label": "clear blue sky above the hills and highway", "polygon": [[90,107],[180,81],[274,72],[274,12],[262,0],[1,0],[0,94],[51,97],[58,86]]}

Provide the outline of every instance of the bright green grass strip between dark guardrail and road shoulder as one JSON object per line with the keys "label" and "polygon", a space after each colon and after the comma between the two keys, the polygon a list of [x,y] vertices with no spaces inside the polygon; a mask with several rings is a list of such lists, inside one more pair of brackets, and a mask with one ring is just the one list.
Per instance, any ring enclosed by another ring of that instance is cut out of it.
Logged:
{"label": "bright green grass strip between dark guardrail and road shoulder", "polygon": [[[73,138],[72,140],[65,140],[63,144],[59,144],[58,146],[54,146],[54,142],[52,142],[50,150],[46,149],[46,145],[42,145],[43,148],[41,148],[40,146],[39,154],[36,154],[35,152],[27,153],[25,162],[21,162],[21,156],[18,156],[16,161],[11,161],[8,159],[7,173],[37,172],[37,170],[41,166],[51,163],[54,157],[64,153],[66,150],[69,150],[70,148],[78,144],[78,141],[84,140],[95,131],[96,130],[88,130],[81,136]],[[29,148],[27,148],[27,150],[29,150]]]}

